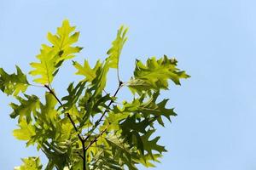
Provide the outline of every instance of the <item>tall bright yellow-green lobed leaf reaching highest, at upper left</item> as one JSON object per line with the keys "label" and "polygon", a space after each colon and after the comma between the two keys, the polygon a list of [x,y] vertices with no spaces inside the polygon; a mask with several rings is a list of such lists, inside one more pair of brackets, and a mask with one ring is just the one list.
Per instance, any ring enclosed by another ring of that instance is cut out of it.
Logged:
{"label": "tall bright yellow-green lobed leaf reaching highest, at upper left", "polygon": [[49,84],[53,81],[63,61],[72,59],[74,54],[79,53],[82,48],[71,46],[79,38],[79,32],[72,34],[74,29],[75,26],[70,26],[68,20],[64,20],[62,26],[57,29],[56,35],[48,33],[48,39],[52,46],[43,44],[41,53],[37,55],[39,62],[31,63],[34,70],[30,71],[29,74],[41,76],[36,78],[34,82]]}

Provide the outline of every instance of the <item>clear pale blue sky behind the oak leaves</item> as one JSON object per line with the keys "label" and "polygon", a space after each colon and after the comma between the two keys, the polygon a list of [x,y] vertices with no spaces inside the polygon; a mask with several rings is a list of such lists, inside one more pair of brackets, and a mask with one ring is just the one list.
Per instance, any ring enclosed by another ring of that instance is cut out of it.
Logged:
{"label": "clear pale blue sky behind the oak leaves", "polygon": [[[81,31],[84,49],[76,59],[93,63],[106,56],[117,28],[125,24],[130,31],[120,60],[123,80],[131,77],[136,58],[163,54],[175,56],[192,76],[163,94],[178,116],[158,131],[169,152],[153,169],[254,170],[255,7],[253,0],[1,0],[0,67],[13,72],[20,65],[30,71],[28,63],[36,60],[46,33],[55,32],[63,19]],[[69,64],[53,84],[59,95],[73,80]],[[43,90],[30,88],[29,93]],[[20,157],[43,154],[14,139],[11,99],[4,94],[0,99],[0,168],[9,170],[20,165]]]}

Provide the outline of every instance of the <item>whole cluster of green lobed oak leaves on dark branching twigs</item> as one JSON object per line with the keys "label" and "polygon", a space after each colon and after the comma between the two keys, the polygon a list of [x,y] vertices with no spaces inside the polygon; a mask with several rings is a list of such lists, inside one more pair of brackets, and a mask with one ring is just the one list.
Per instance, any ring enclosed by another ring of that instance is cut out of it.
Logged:
{"label": "whole cluster of green lobed oak leaves on dark branching twigs", "polygon": [[[55,35],[48,33],[51,45],[42,45],[38,62],[31,63],[29,75],[46,91],[45,99],[26,94],[26,88],[33,85],[18,66],[16,74],[0,69],[0,89],[17,100],[10,104],[11,118],[18,119],[15,138],[42,150],[49,160],[47,170],[136,170],[137,164],[154,167],[154,162],[160,161],[166,152],[158,143],[160,136],[155,134],[155,124],[164,126],[164,118],[171,122],[171,116],[176,116],[166,106],[168,99],[159,99],[160,91],[168,89],[169,80],[179,85],[180,79],[189,75],[177,68],[176,59],[164,55],[160,59],[152,57],[146,64],[137,60],[131,80],[122,82],[119,58],[128,29],[121,26],[105,60],[98,60],[92,67],[87,59],[83,65],[73,61],[75,74],[83,78],[71,82],[67,96],[59,98],[50,83],[62,63],[82,49],[73,46],[79,40],[79,32],[74,30],[75,26],[64,20]],[[105,91],[111,68],[117,69],[119,80],[114,94]],[[120,104],[118,93],[125,87],[131,89],[133,99]],[[38,157],[22,161],[23,165],[15,169],[43,168]]]}

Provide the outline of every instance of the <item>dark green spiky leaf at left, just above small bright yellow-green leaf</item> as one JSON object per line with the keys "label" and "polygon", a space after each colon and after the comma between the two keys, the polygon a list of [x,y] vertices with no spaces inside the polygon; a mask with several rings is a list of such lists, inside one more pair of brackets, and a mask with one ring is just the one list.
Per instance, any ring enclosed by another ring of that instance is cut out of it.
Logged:
{"label": "dark green spiky leaf at left, just above small bright yellow-green leaf", "polygon": [[36,114],[36,110],[39,107],[40,101],[37,96],[35,95],[27,95],[24,94],[26,99],[23,99],[19,96],[16,97],[20,104],[11,103],[10,106],[14,110],[11,114],[11,118],[15,118],[16,116],[19,116],[19,122],[23,117],[26,117],[26,122],[32,121],[32,114]]}

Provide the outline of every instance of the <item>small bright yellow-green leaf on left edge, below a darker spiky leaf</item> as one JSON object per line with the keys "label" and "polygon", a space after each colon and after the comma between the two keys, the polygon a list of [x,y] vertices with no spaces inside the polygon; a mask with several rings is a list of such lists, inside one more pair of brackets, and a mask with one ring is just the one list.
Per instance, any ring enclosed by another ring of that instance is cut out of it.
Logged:
{"label": "small bright yellow-green leaf on left edge, below a darker spiky leaf", "polygon": [[15,129],[13,132],[16,139],[30,140],[36,135],[35,127],[32,126],[31,122],[27,123],[25,118],[20,120],[19,127],[19,129]]}

